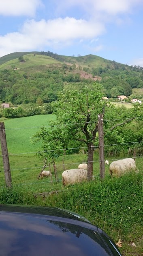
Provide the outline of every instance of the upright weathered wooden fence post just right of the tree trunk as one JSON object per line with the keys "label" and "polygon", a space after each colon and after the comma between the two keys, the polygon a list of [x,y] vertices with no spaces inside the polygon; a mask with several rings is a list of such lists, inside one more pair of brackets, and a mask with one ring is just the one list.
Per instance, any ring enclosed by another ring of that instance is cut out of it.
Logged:
{"label": "upright weathered wooden fence post just right of the tree trunk", "polygon": [[98,138],[99,138],[99,161],[100,177],[105,177],[105,156],[104,156],[104,133],[103,133],[103,115],[98,115]]}

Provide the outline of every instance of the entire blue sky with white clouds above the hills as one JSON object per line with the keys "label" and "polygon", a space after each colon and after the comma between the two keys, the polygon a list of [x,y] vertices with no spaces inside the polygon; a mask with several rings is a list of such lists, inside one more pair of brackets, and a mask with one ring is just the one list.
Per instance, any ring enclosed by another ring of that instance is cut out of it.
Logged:
{"label": "entire blue sky with white clouds above the hills", "polygon": [[0,57],[48,50],[143,66],[143,0],[0,0]]}

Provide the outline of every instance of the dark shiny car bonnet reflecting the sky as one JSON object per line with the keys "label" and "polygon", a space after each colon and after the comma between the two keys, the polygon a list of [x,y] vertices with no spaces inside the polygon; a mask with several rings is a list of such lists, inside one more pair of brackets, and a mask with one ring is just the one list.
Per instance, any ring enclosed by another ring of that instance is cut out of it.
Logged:
{"label": "dark shiny car bonnet reflecting the sky", "polygon": [[0,205],[2,256],[121,256],[112,239],[83,216],[58,207]]}

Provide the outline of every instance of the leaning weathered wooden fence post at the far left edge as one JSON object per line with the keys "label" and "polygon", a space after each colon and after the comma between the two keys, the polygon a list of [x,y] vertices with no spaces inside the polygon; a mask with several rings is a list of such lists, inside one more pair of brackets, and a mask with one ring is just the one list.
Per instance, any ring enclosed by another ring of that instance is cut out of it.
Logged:
{"label": "leaning weathered wooden fence post at the far left edge", "polygon": [[11,169],[9,163],[9,154],[7,150],[6,134],[4,128],[4,122],[0,123],[0,143],[2,148],[2,159],[4,165],[4,176],[7,187],[12,187]]}

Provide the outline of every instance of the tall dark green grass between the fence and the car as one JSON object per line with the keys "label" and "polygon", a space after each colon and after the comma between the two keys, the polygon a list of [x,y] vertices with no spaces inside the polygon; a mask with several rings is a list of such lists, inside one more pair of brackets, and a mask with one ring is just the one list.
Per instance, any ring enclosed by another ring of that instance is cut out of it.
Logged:
{"label": "tall dark green grass between the fence and the car", "polygon": [[[88,218],[124,245],[143,239],[143,174],[126,174],[120,178],[97,178],[62,187],[58,194],[35,197],[30,187],[14,186],[0,190],[0,203],[60,207]],[[137,252],[143,255],[143,249]],[[128,255],[128,254],[125,254]],[[130,254],[132,255],[132,254]]]}

